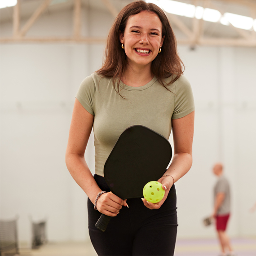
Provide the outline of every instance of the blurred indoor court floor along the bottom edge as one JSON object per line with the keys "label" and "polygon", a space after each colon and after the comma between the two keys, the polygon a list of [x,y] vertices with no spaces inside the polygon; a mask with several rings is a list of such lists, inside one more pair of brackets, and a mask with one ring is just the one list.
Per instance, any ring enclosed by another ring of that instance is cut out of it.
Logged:
{"label": "blurred indoor court floor along the bottom edge", "polygon": [[[231,239],[237,256],[256,256],[256,238]],[[216,239],[178,239],[175,256],[218,256]],[[90,242],[47,243],[32,251],[21,250],[26,256],[97,256]]]}

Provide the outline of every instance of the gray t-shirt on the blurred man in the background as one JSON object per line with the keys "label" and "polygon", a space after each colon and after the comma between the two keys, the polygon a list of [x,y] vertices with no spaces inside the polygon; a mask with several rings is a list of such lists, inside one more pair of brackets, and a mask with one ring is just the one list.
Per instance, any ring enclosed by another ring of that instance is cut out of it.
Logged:
{"label": "gray t-shirt on the blurred man in the background", "polygon": [[214,186],[214,200],[218,193],[224,193],[225,198],[221,207],[218,209],[217,215],[225,215],[230,213],[230,185],[225,176],[218,177],[218,181]]}

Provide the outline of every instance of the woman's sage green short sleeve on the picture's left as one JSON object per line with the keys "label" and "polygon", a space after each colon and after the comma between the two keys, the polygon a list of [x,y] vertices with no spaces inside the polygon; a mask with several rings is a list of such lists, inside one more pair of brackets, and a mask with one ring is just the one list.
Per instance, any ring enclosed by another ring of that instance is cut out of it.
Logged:
{"label": "woman's sage green short sleeve on the picture's left", "polygon": [[95,83],[92,76],[86,77],[79,86],[76,98],[82,106],[92,115],[94,115],[94,96]]}

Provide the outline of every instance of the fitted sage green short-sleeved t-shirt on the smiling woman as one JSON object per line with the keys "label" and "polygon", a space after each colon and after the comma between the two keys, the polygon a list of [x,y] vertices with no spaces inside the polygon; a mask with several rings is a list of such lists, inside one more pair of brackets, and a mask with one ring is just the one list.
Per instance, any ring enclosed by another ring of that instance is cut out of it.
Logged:
{"label": "fitted sage green short-sleeved t-shirt on the smiling woman", "polygon": [[116,93],[112,78],[93,73],[82,81],[76,98],[94,115],[97,175],[104,176],[106,159],[126,128],[136,124],[144,125],[169,139],[172,119],[184,117],[194,110],[191,86],[183,75],[170,84],[168,89],[171,92],[164,88],[156,77],[140,87],[120,82],[120,94],[124,97],[122,98]]}

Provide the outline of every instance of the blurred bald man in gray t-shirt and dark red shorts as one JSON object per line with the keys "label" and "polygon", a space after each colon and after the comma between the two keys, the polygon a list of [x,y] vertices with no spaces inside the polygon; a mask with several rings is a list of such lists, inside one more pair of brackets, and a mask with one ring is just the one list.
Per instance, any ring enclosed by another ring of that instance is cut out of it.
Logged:
{"label": "blurred bald man in gray t-shirt and dark red shorts", "polygon": [[214,186],[214,210],[212,217],[216,220],[216,230],[221,244],[222,255],[232,256],[234,252],[230,245],[230,238],[226,234],[226,227],[230,217],[230,185],[223,175],[221,163],[216,163],[213,166],[213,173],[218,177],[218,180]]}

